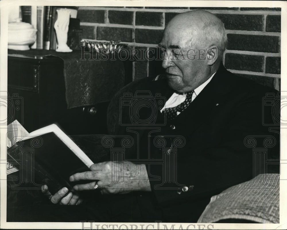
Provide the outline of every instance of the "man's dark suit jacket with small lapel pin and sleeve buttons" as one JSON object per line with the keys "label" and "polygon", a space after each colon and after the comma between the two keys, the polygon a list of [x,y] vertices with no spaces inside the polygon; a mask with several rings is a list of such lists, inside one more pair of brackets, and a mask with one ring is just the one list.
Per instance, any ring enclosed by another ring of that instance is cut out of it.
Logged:
{"label": "man's dark suit jacket with small lapel pin and sleeve buttons", "polygon": [[[146,218],[144,221],[196,222],[211,196],[253,178],[253,150],[244,143],[245,137],[275,136],[276,146],[279,146],[279,134],[269,132],[269,127],[262,124],[263,98],[267,92],[277,96],[278,91],[235,76],[223,65],[191,105],[172,121],[165,120],[160,113],[163,105],[158,103],[160,97],[156,95],[160,94],[167,100],[174,92],[165,79],[147,79],[137,85],[137,90],[148,90],[153,99],[146,100],[152,101],[157,108],[123,107],[121,119],[125,122],[122,123],[133,124],[121,125],[118,134],[133,136],[135,148],[130,149],[131,154],[126,155],[126,159],[136,159],[132,154],[139,152],[138,159],[146,163],[149,173],[152,193],[136,196],[142,217]],[[133,103],[136,100],[130,106]],[[152,116],[156,120],[150,119],[150,123],[142,125]],[[271,120],[271,114],[265,114],[264,119]],[[137,122],[140,125],[135,128]],[[132,128],[127,130],[128,127]],[[156,136],[166,139],[163,147],[154,145]],[[184,138],[185,145],[177,148],[176,153],[164,156],[163,150],[168,149],[168,141],[172,141],[175,136]],[[174,173],[171,182],[176,183],[168,183],[164,172],[163,159],[170,156],[174,158],[167,160],[169,165],[165,167],[172,168],[173,171],[169,170]],[[278,148],[268,149],[267,158],[279,159]],[[273,169],[278,172],[279,167]],[[163,180],[167,181],[157,187]],[[185,186],[187,191],[182,190]]]}

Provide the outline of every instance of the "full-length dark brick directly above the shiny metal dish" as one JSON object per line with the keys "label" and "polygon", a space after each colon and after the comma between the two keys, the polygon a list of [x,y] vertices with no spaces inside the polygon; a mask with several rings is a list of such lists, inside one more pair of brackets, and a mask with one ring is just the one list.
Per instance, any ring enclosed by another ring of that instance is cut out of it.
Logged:
{"label": "full-length dark brick directly above the shiny metal dish", "polygon": [[132,42],[133,30],[129,28],[101,27],[97,28],[97,39]]}

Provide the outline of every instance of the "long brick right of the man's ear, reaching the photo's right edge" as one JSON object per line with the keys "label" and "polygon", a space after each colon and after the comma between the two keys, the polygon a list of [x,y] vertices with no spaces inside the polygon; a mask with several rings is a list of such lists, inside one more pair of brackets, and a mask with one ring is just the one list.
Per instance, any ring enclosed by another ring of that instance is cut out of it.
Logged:
{"label": "long brick right of the man's ear, reaching the photo's right edge", "polygon": [[229,50],[246,50],[255,52],[280,52],[278,36],[227,34]]}

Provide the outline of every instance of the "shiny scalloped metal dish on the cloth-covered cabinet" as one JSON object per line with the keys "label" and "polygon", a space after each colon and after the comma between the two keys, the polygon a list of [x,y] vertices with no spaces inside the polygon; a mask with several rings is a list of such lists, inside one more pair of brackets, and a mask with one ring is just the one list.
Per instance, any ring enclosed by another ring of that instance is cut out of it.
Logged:
{"label": "shiny scalloped metal dish on the cloth-covered cabinet", "polygon": [[115,50],[119,52],[121,49],[124,49],[128,46],[127,44],[120,43],[121,41],[94,42],[94,41],[81,40],[81,42],[83,42],[84,46],[94,47],[94,49],[97,52],[105,49],[106,53],[113,53]]}

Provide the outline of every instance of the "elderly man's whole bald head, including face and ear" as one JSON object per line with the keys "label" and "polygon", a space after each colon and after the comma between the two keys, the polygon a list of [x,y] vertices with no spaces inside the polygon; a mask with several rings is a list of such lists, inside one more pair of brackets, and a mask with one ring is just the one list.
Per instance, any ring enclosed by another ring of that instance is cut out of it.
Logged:
{"label": "elderly man's whole bald head, including face and ear", "polygon": [[224,25],[212,13],[197,10],[175,16],[159,44],[170,88],[190,92],[207,81],[219,68],[226,42]]}

